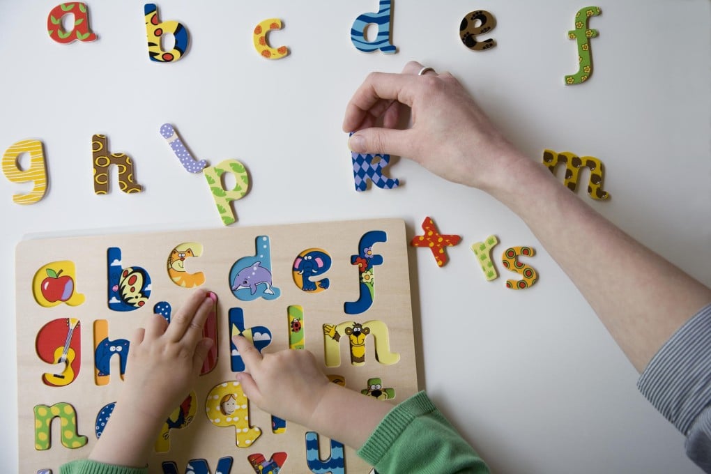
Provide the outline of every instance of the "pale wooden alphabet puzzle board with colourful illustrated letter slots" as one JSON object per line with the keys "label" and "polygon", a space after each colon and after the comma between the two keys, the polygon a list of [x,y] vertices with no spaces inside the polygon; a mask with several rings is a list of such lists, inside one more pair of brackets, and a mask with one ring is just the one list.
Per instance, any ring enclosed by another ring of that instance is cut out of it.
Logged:
{"label": "pale wooden alphabet puzzle board with colourful illustrated letter slots", "polygon": [[265,352],[305,347],[333,382],[383,403],[417,392],[402,220],[25,240],[16,279],[23,473],[88,456],[134,329],[197,286],[218,296],[205,326],[216,352],[156,439],[151,473],[187,472],[191,460],[195,473],[368,472],[351,448],[249,406],[230,333]]}

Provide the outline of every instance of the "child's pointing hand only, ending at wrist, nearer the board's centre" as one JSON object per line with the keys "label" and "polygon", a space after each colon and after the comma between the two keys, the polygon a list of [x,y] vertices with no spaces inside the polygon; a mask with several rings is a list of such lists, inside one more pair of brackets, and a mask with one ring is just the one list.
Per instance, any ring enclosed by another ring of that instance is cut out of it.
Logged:
{"label": "child's pointing hand only, ending at wrist, nearer the board's centre", "polygon": [[308,350],[281,350],[260,354],[241,335],[232,342],[247,367],[237,373],[250,402],[267,413],[307,426],[328,387],[328,378]]}

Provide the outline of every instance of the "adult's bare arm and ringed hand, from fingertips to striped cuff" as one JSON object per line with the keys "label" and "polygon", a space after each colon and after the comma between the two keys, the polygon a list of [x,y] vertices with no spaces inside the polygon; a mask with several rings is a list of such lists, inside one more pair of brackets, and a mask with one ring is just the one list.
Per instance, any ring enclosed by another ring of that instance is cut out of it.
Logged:
{"label": "adult's bare arm and ringed hand, from fingertips to striped cuff", "polygon": [[[637,370],[706,303],[711,290],[626,235],[516,150],[450,74],[370,74],[343,121],[353,151],[393,153],[486,191],[519,215]],[[412,126],[397,129],[405,108]],[[376,126],[379,122],[383,126]],[[581,251],[584,249],[584,251]]]}

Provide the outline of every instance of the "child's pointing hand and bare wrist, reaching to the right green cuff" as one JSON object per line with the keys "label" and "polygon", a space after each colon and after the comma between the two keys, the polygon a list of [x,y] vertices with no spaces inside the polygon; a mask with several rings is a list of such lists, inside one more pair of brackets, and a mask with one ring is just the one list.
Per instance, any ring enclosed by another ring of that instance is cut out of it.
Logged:
{"label": "child's pointing hand and bare wrist, reaching to the right green cuff", "polygon": [[[242,336],[232,337],[247,372],[242,389],[260,409],[294,421],[328,438],[360,448],[392,405],[328,382],[308,350],[260,354]],[[344,416],[356,413],[357,416]]]}

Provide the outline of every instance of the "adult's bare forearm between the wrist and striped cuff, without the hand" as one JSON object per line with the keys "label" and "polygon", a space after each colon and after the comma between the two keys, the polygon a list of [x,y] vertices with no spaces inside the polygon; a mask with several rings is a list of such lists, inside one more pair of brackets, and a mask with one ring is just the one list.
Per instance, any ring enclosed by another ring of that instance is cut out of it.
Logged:
{"label": "adult's bare forearm between the wrist and striped cuff, without the hand", "polygon": [[540,163],[512,161],[508,181],[491,194],[524,220],[643,370],[711,301],[711,290],[611,224]]}

